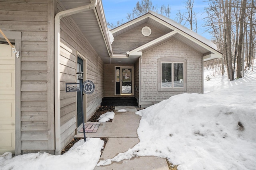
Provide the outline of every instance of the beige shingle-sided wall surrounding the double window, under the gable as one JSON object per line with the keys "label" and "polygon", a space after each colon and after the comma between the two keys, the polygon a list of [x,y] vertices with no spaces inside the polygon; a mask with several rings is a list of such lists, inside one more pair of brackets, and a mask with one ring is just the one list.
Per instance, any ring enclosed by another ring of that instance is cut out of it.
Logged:
{"label": "beige shingle-sided wall surrounding the double window, under the gable", "polygon": [[[158,59],[180,57],[187,60],[187,89],[184,92],[158,91]],[[182,93],[202,93],[202,54],[172,39],[143,53],[141,61],[141,102],[139,105],[152,105],[171,96]]]}

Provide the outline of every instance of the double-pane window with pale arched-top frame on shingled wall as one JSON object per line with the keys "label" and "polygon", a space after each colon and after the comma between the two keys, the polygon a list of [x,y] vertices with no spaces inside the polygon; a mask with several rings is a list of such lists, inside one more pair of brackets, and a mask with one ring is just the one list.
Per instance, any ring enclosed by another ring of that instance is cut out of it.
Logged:
{"label": "double-pane window with pale arched-top frame on shingled wall", "polygon": [[158,60],[158,90],[186,91],[186,60],[165,57]]}

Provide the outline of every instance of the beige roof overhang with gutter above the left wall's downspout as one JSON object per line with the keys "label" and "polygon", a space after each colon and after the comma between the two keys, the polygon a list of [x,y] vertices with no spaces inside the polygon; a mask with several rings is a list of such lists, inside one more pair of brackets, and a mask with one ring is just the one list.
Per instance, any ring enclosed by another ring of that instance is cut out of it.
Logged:
{"label": "beige roof overhang with gutter above the left wall's downspout", "polygon": [[[60,2],[64,9],[69,10],[86,6],[92,0],[60,0]],[[94,9],[72,14],[70,17],[75,21],[102,61],[109,63],[110,57],[113,55],[112,46],[101,0],[98,0]]]}

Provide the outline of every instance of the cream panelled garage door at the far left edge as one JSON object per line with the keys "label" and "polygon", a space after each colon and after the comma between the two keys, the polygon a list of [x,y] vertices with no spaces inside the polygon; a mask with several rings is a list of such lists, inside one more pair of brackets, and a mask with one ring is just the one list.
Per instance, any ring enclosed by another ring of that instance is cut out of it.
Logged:
{"label": "cream panelled garage door at the far left edge", "polygon": [[15,152],[15,54],[0,43],[0,154]]}

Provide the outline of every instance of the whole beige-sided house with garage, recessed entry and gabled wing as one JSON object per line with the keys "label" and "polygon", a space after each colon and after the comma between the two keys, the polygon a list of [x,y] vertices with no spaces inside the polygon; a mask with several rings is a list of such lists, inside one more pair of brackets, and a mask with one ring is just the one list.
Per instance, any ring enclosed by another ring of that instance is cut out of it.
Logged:
{"label": "whole beige-sided house with garage, recessed entry and gabled wing", "polygon": [[[203,62],[221,57],[209,40],[154,12],[108,31],[101,0],[0,0],[0,154],[61,150],[104,97],[148,107],[203,93]],[[112,38],[114,41],[112,42]],[[76,72],[95,85],[66,92]]]}

